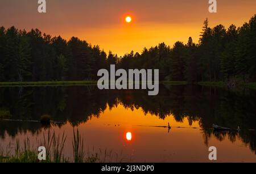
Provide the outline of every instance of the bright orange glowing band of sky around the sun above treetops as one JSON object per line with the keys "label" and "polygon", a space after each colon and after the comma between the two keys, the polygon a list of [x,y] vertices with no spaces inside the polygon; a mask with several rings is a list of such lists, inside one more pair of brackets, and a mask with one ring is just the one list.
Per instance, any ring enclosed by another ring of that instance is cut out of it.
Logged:
{"label": "bright orange glowing band of sky around the sun above treetops", "polygon": [[209,27],[223,24],[225,28],[228,28],[230,24],[235,24],[237,27],[242,26],[251,16],[252,14],[248,14],[246,17],[237,19],[224,16],[222,19],[220,16],[204,15],[200,19],[185,22],[156,22],[143,19],[138,12],[126,12],[121,14],[115,23],[105,24],[102,27],[79,26],[72,29],[58,27],[51,31],[43,31],[51,33],[52,36],[60,35],[66,40],[71,39],[72,36],[79,37],[79,39],[92,45],[100,45],[100,48],[106,53],[112,51],[118,56],[123,56],[132,50],[134,53],[142,53],[144,48],[149,49],[160,43],[165,43],[171,47],[176,41],[187,44],[189,37],[192,37],[193,42],[197,44],[203,22],[207,17]]}

